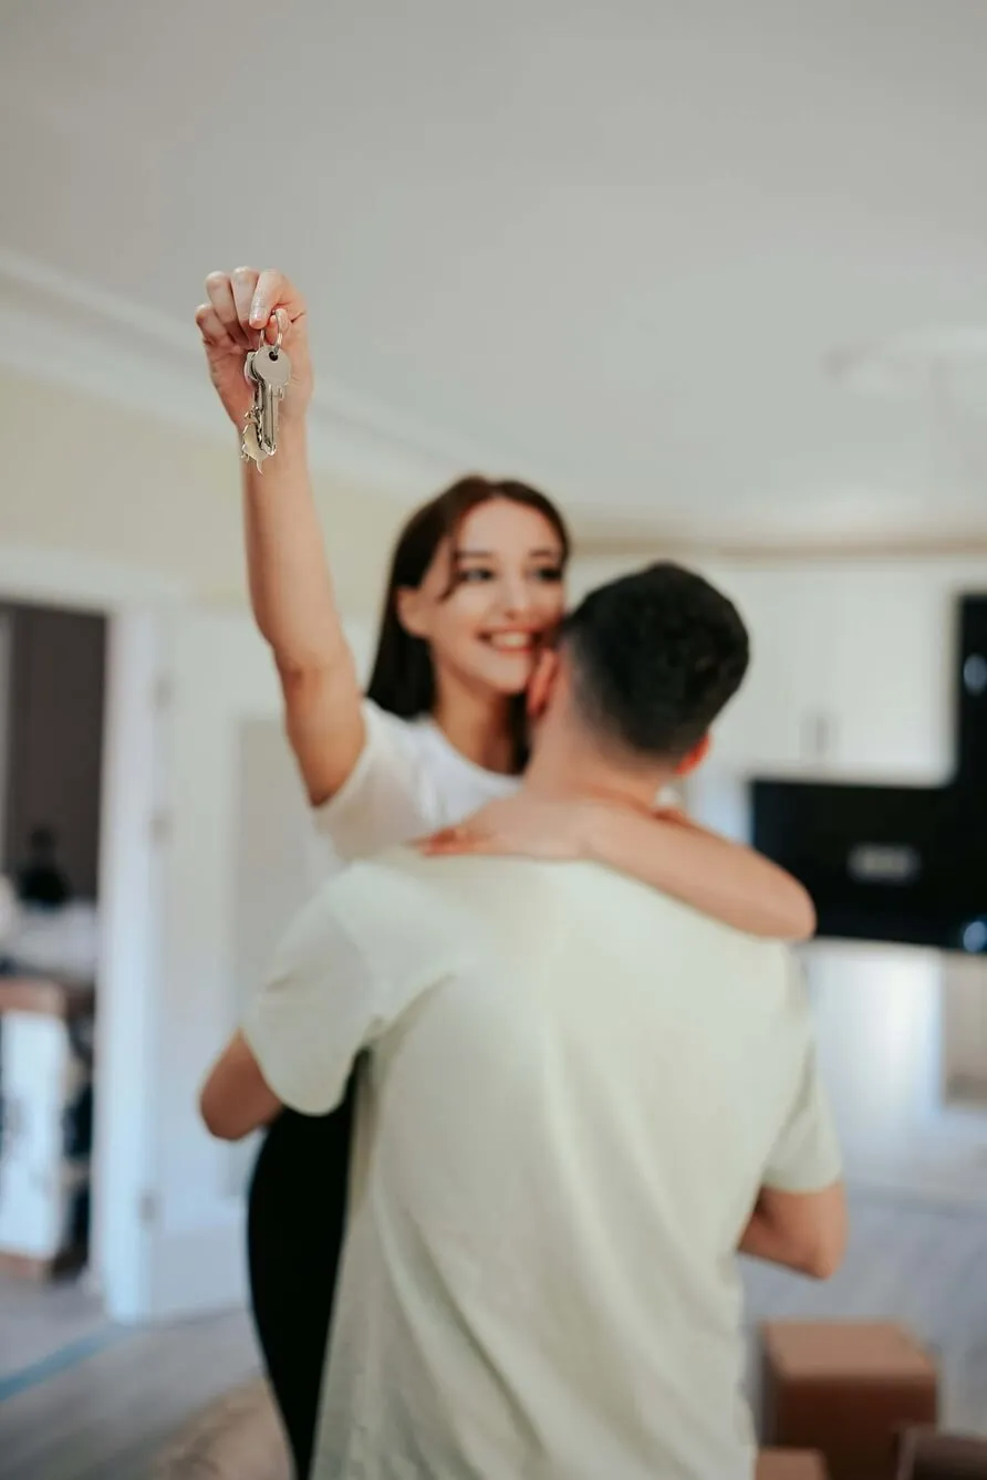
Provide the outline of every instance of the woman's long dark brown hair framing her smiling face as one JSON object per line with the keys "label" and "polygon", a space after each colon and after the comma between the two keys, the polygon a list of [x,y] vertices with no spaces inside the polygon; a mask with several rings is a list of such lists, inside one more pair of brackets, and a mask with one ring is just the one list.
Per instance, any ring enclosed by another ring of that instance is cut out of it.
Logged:
{"label": "woman's long dark brown hair framing her smiling face", "polygon": [[[460,478],[445,493],[426,503],[411,515],[398,536],[391,561],[388,586],[380,619],[380,636],[374,659],[367,699],[401,719],[417,719],[428,715],[435,704],[435,667],[429,645],[423,638],[413,636],[398,617],[398,592],[402,588],[417,588],[435,559],[435,552],[445,539],[456,540],[466,515],[491,499],[509,499],[543,515],[562,543],[562,564],[568,559],[570,537],[565,521],[550,499],[525,482],[505,480],[503,482],[472,475]],[[524,737],[524,694],[512,706],[512,731],[515,737],[515,761],[518,770],[527,758]]]}

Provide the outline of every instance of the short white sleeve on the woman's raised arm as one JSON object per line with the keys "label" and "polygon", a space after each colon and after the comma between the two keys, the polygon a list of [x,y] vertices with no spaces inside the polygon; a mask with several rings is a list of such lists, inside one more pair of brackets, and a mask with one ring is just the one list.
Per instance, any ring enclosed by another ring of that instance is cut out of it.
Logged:
{"label": "short white sleeve on the woman's raised arm", "polygon": [[345,784],[315,808],[315,826],[336,858],[349,863],[431,832],[414,727],[363,706],[366,740]]}

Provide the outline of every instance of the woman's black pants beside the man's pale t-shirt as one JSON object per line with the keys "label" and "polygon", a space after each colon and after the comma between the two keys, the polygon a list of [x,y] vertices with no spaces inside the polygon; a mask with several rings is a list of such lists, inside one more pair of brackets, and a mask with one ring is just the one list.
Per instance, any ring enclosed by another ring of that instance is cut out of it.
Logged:
{"label": "woman's black pants beside the man's pale t-shirt", "polygon": [[297,1480],[308,1480],[329,1325],[346,1228],[354,1080],[327,1116],[284,1110],[253,1169],[250,1296]]}

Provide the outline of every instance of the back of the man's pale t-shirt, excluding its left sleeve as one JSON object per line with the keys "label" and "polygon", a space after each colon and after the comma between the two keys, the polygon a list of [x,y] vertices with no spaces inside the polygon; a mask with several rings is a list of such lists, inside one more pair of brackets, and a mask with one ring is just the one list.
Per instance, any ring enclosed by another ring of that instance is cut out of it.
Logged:
{"label": "back of the man's pale t-shirt, excluding its left sleeve", "polygon": [[732,1255],[772,1171],[836,1175],[784,949],[590,864],[395,854],[327,900],[391,1026],[317,1476],[747,1476]]}

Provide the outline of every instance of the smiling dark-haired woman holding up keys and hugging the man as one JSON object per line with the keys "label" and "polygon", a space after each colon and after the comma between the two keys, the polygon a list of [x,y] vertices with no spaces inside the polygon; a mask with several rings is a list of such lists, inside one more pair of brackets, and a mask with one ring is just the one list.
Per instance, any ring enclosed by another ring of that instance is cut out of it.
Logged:
{"label": "smiling dark-haired woman holding up keys and hugging the man", "polygon": [[[207,292],[197,323],[238,429],[252,403],[244,355],[259,332],[274,337],[275,314],[286,327],[292,383],[278,451],[262,475],[244,465],[250,592],[278,666],[289,739],[337,858],[447,827],[490,802],[503,838],[485,847],[545,851],[512,815],[509,795],[525,758],[525,688],[564,611],[561,515],[524,484],[484,478],[420,509],[398,540],[364,699],[308,475],[305,305],[271,271],[213,274]],[[698,829],[605,807],[559,805],[549,820],[555,857],[596,857],[752,932],[804,938],[814,928],[801,885]],[[311,1459],[342,1243],[349,1114],[351,1097],[323,1119],[281,1114],[250,1193],[255,1317],[299,1476]],[[334,1191],[321,1200],[327,1168]]]}

